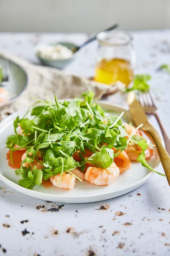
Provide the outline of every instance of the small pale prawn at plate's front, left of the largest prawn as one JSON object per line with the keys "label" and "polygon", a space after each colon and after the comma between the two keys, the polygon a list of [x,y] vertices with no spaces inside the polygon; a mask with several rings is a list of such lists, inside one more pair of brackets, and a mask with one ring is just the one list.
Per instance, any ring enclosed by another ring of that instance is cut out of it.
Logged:
{"label": "small pale prawn at plate's front, left of the largest prawn", "polygon": [[[75,176],[70,173],[63,173],[60,180],[60,174],[54,175],[50,177],[50,181],[56,187],[60,187],[62,189],[73,189],[75,185]],[[60,184],[59,184],[60,183]]]}

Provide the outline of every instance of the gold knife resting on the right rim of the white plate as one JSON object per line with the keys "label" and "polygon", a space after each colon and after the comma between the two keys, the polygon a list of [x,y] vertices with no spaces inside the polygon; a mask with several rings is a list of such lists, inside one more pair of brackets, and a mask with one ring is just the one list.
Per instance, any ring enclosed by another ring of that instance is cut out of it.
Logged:
{"label": "gold knife resting on the right rim of the white plate", "polygon": [[127,96],[127,102],[133,121],[136,126],[143,124],[142,130],[148,132],[153,141],[155,142],[162,166],[164,168],[167,181],[170,186],[170,156],[167,154],[164,146],[161,143],[159,135],[155,128],[148,122],[147,116],[142,109],[141,104],[137,101],[134,92],[129,92]]}

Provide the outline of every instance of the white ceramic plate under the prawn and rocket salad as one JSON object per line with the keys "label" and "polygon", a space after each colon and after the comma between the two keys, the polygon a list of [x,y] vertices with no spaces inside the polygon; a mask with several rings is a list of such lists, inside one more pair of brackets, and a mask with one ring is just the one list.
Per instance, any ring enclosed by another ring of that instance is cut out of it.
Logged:
{"label": "white ceramic plate under the prawn and rocket salad", "polygon": [[[109,102],[99,101],[99,104],[106,112],[113,114],[120,114],[120,112],[124,111],[124,120],[127,122],[132,121],[128,110]],[[0,123],[0,180],[25,195],[58,203],[96,202],[126,194],[144,184],[152,175],[152,172],[142,167],[141,163],[134,162],[131,169],[119,175],[115,182],[109,186],[96,186],[87,181],[80,182],[77,180],[74,189],[70,191],[58,189],[54,186],[47,189],[42,185],[35,186],[34,190],[25,189],[18,185],[20,177],[16,176],[14,169],[8,166],[6,160],[8,149],[5,149],[6,138],[14,133],[13,120],[18,114],[22,117],[24,113],[25,111],[15,112]],[[160,161],[156,150],[155,156],[148,163],[152,168],[156,168],[159,165]]]}

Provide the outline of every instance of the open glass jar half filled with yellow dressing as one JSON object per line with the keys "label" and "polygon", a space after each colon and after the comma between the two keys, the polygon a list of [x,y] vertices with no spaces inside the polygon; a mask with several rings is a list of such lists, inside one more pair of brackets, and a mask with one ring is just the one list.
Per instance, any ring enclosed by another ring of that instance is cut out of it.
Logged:
{"label": "open glass jar half filled with yellow dressing", "polygon": [[121,81],[127,86],[133,79],[136,60],[132,36],[126,31],[112,30],[100,32],[96,38],[99,45],[94,80],[110,85]]}

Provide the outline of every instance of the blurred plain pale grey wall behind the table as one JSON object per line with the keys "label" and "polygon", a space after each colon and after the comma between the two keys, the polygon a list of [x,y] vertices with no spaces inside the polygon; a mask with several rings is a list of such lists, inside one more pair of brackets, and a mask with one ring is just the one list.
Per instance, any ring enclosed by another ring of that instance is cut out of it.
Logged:
{"label": "blurred plain pale grey wall behind the table", "polygon": [[170,0],[0,0],[0,31],[97,32],[170,28]]}

